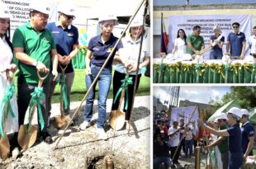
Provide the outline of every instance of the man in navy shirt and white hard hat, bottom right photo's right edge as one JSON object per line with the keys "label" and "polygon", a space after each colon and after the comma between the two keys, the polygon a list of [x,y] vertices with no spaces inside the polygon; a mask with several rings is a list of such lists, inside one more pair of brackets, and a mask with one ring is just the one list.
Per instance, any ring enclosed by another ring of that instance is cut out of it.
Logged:
{"label": "man in navy shirt and white hard hat, bottom right photo's right edge", "polygon": [[248,156],[253,155],[254,147],[254,127],[249,123],[249,111],[246,109],[241,109],[242,118],[240,122],[243,124],[241,126],[242,133],[242,151],[244,154],[244,160]]}

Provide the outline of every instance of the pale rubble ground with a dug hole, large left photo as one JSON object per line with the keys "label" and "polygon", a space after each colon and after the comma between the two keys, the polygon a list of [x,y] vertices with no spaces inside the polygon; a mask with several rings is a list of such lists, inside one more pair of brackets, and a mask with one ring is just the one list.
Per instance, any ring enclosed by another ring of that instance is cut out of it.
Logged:
{"label": "pale rubble ground with a dug hole, large left photo", "polygon": [[[58,130],[50,125],[50,134],[54,142],[46,144],[40,139],[36,144],[16,160],[9,158],[0,160],[0,168],[105,168],[106,157],[111,157],[116,169],[149,168],[150,167],[150,110],[149,96],[137,96],[130,136],[128,130],[114,131],[106,126],[107,140],[98,139],[95,125],[85,131],[79,131],[78,126],[83,122],[83,108],[73,120],[67,134],[54,150]],[[71,104],[72,112],[78,102]],[[97,105],[97,101],[96,104]],[[52,116],[59,114],[59,104],[52,106]],[[111,100],[107,101],[107,119],[111,111]],[[97,112],[97,106],[93,107]],[[92,119],[97,119],[97,113]],[[92,121],[95,122],[95,120]]]}

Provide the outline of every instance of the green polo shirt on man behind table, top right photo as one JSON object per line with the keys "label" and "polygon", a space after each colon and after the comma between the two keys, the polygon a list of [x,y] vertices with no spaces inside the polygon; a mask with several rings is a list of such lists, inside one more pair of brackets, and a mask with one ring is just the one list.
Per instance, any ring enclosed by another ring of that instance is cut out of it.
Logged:
{"label": "green polo shirt on man behind table, top right photo", "polygon": [[[197,49],[198,51],[201,50],[201,45],[204,44],[204,40],[201,37],[201,35],[188,35],[187,36],[187,43],[190,42],[192,44],[192,46],[194,46],[195,49]],[[192,49],[190,47],[187,46],[187,54],[195,54]]]}

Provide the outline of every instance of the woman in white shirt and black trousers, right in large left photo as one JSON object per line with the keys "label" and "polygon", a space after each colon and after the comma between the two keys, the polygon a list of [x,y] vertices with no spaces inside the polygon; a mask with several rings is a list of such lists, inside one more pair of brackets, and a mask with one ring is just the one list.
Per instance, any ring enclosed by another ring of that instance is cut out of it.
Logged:
{"label": "woman in white shirt and black trousers, right in large left photo", "polygon": [[[126,112],[126,127],[128,127],[128,121],[130,120],[130,112],[132,106],[132,99],[134,97],[134,87],[135,87],[135,76],[136,76],[136,68],[137,68],[137,60],[139,58],[140,53],[140,38],[144,35],[145,27],[143,23],[142,16],[136,16],[135,19],[130,24],[130,35],[126,38],[122,39],[122,43],[124,45],[124,52],[128,57],[130,63],[133,64],[133,68],[127,71],[125,65],[121,63],[121,59],[119,56],[115,57],[115,60],[118,61],[115,68],[115,73],[113,77],[113,102],[111,110],[117,110],[120,104],[121,94],[118,94],[120,88],[122,88],[122,80],[126,78],[126,74],[129,73],[129,77],[131,77],[131,82],[128,84],[127,91],[125,92],[125,104],[124,104],[124,112]],[[142,46],[141,55],[140,55],[140,65],[139,65],[139,73],[138,73],[138,81],[136,84],[136,89],[140,84],[141,77],[141,68],[146,67],[149,64],[149,51],[145,48],[145,44]],[[128,76],[127,76],[128,77]],[[119,92],[121,93],[121,92]]]}

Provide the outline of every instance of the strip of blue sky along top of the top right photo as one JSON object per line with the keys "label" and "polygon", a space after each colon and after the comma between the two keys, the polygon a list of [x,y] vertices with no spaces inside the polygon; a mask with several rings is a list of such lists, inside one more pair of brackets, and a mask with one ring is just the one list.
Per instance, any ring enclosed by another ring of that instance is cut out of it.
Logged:
{"label": "strip of blue sky along top of the top right photo", "polygon": [[[223,4],[223,3],[255,3],[255,0],[189,0],[190,5]],[[153,0],[154,6],[186,5],[186,0]]]}

